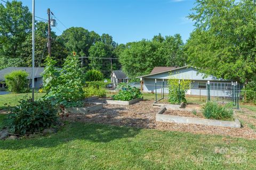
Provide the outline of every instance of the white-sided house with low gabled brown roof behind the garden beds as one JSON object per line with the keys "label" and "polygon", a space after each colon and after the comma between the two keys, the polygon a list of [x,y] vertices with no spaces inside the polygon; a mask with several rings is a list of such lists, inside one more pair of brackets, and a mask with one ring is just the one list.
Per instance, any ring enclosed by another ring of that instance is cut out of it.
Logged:
{"label": "white-sided house with low gabled brown roof behind the garden beds", "polygon": [[[150,74],[137,78],[141,79],[145,92],[168,93],[168,79],[186,79],[191,80],[191,88],[187,91],[187,95],[207,96],[207,81],[210,81],[211,96],[230,97],[232,95],[232,80],[217,79],[213,75],[206,76],[189,66],[155,67]],[[239,83],[238,89],[241,89]]]}

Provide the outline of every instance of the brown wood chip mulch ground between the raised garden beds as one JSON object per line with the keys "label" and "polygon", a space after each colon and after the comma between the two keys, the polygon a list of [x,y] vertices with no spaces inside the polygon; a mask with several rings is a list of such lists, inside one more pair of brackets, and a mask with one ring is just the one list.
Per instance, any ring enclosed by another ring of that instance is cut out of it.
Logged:
{"label": "brown wood chip mulch ground between the raised garden beds", "polygon": [[219,126],[156,122],[156,113],[159,108],[154,108],[154,101],[151,100],[143,100],[129,106],[107,105],[106,101],[100,99],[94,102],[101,102],[105,104],[99,111],[86,115],[70,113],[69,116],[64,117],[63,120],[256,139],[255,131],[249,127],[223,128]]}

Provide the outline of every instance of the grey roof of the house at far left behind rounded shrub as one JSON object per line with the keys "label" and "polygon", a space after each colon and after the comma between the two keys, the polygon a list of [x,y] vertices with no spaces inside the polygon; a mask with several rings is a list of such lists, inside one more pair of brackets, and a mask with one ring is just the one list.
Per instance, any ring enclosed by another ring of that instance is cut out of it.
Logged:
{"label": "grey roof of the house at far left behind rounded shrub", "polygon": [[[31,77],[32,67],[7,67],[0,70],[0,80],[4,80],[4,76],[12,71],[22,70],[28,73],[28,79]],[[42,77],[44,67],[35,67],[35,78]]]}

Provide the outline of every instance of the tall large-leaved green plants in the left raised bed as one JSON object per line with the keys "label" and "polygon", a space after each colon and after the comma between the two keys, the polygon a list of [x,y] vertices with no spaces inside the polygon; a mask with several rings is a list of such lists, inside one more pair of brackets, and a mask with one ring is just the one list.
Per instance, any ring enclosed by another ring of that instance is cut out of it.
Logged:
{"label": "tall large-leaved green plants in the left raised bed", "polygon": [[[52,59],[51,59],[52,60]],[[51,99],[55,104],[70,105],[84,97],[82,70],[77,56],[68,56],[61,70],[54,69],[54,61],[48,62],[44,77],[51,75],[47,84],[45,99]],[[57,75],[59,75],[57,77]],[[45,79],[46,80],[46,79]]]}

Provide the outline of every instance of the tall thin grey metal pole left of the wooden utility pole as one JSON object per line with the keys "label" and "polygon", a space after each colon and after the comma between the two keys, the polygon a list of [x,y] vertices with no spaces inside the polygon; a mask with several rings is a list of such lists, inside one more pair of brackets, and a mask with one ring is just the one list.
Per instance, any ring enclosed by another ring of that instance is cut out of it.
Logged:
{"label": "tall thin grey metal pole left of the wooden utility pole", "polygon": [[35,0],[32,0],[32,101],[35,100]]}

